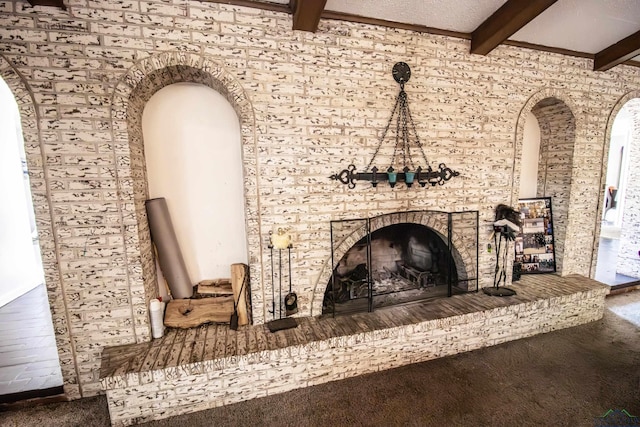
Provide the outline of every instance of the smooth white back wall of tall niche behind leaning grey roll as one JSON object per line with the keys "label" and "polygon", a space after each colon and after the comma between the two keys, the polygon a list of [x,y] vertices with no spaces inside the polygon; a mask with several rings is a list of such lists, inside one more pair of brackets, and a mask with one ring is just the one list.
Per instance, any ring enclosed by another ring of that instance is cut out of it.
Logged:
{"label": "smooth white back wall of tall niche behind leaning grey roll", "polygon": [[[247,263],[238,117],[206,86],[167,86],[145,106],[149,197],[167,200],[193,284]],[[161,289],[162,290],[162,289]]]}

